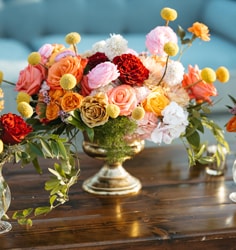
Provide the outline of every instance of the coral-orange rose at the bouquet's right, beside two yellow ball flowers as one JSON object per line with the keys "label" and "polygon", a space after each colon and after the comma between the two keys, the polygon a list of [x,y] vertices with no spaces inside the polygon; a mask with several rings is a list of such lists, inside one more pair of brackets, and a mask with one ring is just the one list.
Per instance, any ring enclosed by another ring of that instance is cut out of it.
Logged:
{"label": "coral-orange rose at the bouquet's right, beside two yellow ball flowers", "polygon": [[190,99],[195,99],[197,102],[211,103],[211,96],[217,96],[217,89],[213,83],[206,83],[201,80],[200,70],[197,65],[188,66],[188,74],[184,74],[182,86],[186,89]]}

